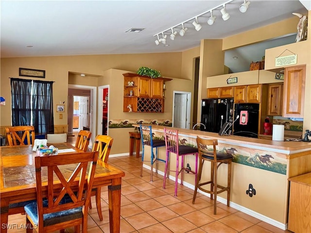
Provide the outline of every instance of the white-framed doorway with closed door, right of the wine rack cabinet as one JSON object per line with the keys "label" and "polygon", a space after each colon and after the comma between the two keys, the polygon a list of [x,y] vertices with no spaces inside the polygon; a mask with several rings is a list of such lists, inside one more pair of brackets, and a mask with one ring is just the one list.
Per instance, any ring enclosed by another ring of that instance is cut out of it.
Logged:
{"label": "white-framed doorway with closed door, right of the wine rack cabinet", "polygon": [[173,127],[190,129],[191,92],[173,91]]}

